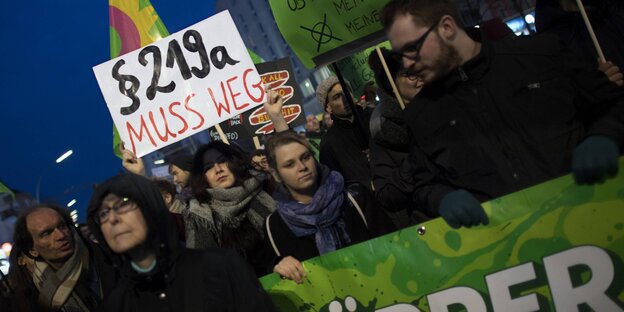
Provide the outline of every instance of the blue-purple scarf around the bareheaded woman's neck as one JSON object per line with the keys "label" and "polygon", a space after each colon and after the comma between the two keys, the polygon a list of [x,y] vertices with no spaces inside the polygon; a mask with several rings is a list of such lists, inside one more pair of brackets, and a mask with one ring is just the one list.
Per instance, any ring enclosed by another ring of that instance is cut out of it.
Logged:
{"label": "blue-purple scarf around the bareheaded woman's neck", "polygon": [[320,254],[324,254],[351,242],[343,219],[342,204],[345,196],[342,175],[337,171],[329,174],[324,172],[321,185],[314,193],[311,203],[279,201],[277,212],[295,236],[314,234],[316,247]]}

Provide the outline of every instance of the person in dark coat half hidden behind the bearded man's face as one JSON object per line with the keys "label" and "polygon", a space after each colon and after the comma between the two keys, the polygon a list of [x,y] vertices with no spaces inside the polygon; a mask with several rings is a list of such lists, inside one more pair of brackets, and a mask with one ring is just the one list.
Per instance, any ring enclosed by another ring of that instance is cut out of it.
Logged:
{"label": "person in dark coat half hidden behind the bearded man's face", "polygon": [[[385,48],[381,51],[400,98],[404,105],[410,105],[423,87],[422,80],[404,69],[400,60],[391,57],[392,52]],[[407,162],[410,135],[403,119],[403,109],[376,51],[370,54],[368,63],[375,73],[380,97],[370,121],[375,198],[389,212],[397,227],[403,228],[426,221],[435,213],[418,209],[412,200],[416,183]]]}

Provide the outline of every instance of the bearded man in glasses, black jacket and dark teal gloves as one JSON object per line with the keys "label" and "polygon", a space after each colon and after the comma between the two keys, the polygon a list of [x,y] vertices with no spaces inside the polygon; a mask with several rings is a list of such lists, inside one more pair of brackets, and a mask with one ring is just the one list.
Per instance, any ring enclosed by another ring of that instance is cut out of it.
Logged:
{"label": "bearded man in glasses, black jacket and dark teal gloves", "polygon": [[480,202],[570,171],[617,172],[624,95],[550,36],[490,42],[450,0],[390,1],[394,57],[425,87],[404,112],[419,206],[457,228],[487,224]]}

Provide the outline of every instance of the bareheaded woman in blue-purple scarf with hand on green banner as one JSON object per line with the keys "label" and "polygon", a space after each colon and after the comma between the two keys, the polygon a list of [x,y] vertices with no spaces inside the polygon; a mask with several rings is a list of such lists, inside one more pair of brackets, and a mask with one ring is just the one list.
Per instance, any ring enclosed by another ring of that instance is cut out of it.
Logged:
{"label": "bareheaded woman in blue-purple scarf with hand on green banner", "polygon": [[300,261],[383,232],[366,217],[375,207],[368,189],[347,187],[340,173],[317,163],[305,138],[292,131],[277,133],[267,142],[267,154],[282,183],[274,195],[277,212],[265,226],[267,244],[283,257],[274,272],[302,283],[306,273]]}

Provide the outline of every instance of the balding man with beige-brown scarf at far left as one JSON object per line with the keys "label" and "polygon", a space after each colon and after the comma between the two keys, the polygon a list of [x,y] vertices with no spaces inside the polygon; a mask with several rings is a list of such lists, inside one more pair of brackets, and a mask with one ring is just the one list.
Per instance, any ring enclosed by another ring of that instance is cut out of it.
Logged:
{"label": "balding man with beige-brown scarf at far left", "polygon": [[24,211],[13,240],[9,280],[15,293],[6,311],[94,311],[115,284],[108,259],[58,206]]}

